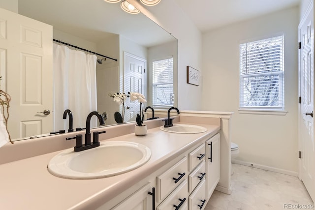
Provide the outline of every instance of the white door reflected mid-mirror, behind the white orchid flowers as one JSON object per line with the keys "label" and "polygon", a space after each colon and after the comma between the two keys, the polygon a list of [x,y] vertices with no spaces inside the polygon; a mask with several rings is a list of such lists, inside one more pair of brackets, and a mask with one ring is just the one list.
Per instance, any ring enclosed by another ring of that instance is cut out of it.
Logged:
{"label": "white door reflected mid-mirror, behind the white orchid flowers", "polygon": [[[125,52],[125,82],[124,91],[139,92],[145,95],[145,68],[146,60]],[[145,95],[146,96],[146,95]],[[145,105],[143,105],[145,108]],[[140,103],[138,101],[127,100],[125,110],[125,122],[135,121],[140,112]]]}

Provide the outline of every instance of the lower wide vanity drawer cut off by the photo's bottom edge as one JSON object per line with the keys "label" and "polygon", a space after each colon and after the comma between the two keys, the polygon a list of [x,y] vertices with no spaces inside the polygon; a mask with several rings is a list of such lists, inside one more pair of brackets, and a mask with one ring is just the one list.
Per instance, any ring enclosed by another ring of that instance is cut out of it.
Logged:
{"label": "lower wide vanity drawer cut off by the photo's bottom edge", "polygon": [[[157,210],[188,210],[188,181],[184,180],[160,205]],[[174,207],[174,205],[176,207]]]}

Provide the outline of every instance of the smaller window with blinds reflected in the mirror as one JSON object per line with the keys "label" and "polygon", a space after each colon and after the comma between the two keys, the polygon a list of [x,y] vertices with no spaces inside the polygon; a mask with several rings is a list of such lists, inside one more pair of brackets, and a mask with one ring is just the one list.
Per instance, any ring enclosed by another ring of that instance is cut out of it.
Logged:
{"label": "smaller window with blinds reflected in the mirror", "polygon": [[173,58],[153,62],[152,90],[154,107],[173,105]]}

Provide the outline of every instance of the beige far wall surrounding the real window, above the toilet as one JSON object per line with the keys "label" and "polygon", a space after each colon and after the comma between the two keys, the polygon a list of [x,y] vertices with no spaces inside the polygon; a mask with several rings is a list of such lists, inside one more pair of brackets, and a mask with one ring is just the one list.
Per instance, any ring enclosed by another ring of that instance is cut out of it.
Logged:
{"label": "beige far wall surrounding the real window, above the toilet", "polygon": [[[239,160],[298,171],[297,27],[299,8],[226,26],[203,34],[202,110],[232,111],[231,140]],[[240,114],[239,44],[284,33],[285,116]]]}

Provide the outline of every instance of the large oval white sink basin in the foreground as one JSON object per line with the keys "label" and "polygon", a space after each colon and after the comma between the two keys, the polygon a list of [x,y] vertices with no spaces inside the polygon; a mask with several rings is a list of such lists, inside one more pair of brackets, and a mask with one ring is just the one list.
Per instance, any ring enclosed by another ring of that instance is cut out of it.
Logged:
{"label": "large oval white sink basin in the foreground", "polygon": [[69,179],[97,179],[136,169],[151,157],[151,150],[133,142],[102,142],[97,148],[63,150],[48,163],[48,171]]}

